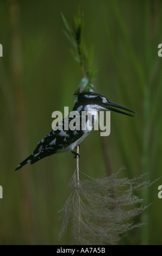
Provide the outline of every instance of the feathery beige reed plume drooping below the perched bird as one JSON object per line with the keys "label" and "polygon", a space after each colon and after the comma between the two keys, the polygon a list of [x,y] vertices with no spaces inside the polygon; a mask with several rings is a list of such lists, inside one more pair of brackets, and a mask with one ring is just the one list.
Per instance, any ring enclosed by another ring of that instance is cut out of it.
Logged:
{"label": "feathery beige reed plume drooping below the perched bird", "polygon": [[157,180],[140,182],[144,175],[117,179],[122,169],[98,179],[80,172],[88,179],[79,180],[79,186],[77,170],[74,172],[69,183],[72,192],[60,210],[63,222],[59,238],[71,222],[74,243],[110,245],[119,242],[129,230],[145,224],[135,224],[133,218],[150,204],[142,206],[143,199],[136,196],[134,191],[151,186]]}

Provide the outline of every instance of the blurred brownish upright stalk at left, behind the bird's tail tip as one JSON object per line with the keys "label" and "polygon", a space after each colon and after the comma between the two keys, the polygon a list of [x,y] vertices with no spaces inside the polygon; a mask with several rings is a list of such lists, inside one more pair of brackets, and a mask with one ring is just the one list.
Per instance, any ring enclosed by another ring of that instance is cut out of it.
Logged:
{"label": "blurred brownish upright stalk at left, behind the bird's tail tip", "polygon": [[[20,159],[24,159],[27,155],[26,150],[26,119],[25,119],[25,100],[23,90],[23,62],[22,62],[22,42],[20,32],[20,9],[15,1],[9,1],[10,24],[11,24],[11,69],[12,82],[14,87],[14,102],[16,116],[16,139],[18,143],[18,151]],[[24,167],[26,170],[28,167]],[[27,244],[33,244],[34,238],[32,233],[33,214],[32,214],[32,198],[29,191],[29,172],[21,172],[21,205],[22,205],[22,223],[23,232]]]}

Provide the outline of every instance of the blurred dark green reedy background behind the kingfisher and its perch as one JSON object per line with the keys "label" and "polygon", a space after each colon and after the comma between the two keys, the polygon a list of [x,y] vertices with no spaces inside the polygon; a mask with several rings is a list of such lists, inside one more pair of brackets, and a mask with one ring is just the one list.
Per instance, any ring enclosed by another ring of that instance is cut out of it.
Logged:
{"label": "blurred dark green reedy background behind the kingfisher and its perch", "polygon": [[[70,228],[58,240],[58,211],[70,194],[68,182],[76,169],[72,154],[14,169],[51,131],[52,112],[73,107],[71,95],[82,74],[69,51],[61,11],[72,25],[79,4],[86,45],[94,45],[96,92],[138,112],[135,118],[111,113],[106,141],[113,172],[126,166],[122,177],[161,176],[162,2],[0,0],[1,245],[71,243]],[[109,174],[97,131],[82,143],[80,154],[82,172],[93,178]],[[162,180],[138,192],[144,205],[153,204],[135,221],[148,224],[127,234],[122,244],[162,244],[159,185]]]}

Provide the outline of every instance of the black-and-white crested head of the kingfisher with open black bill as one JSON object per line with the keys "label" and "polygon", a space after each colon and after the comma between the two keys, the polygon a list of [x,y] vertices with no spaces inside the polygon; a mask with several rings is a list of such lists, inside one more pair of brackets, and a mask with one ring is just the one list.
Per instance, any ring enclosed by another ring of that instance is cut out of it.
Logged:
{"label": "black-and-white crested head of the kingfisher with open black bill", "polygon": [[98,94],[95,92],[87,92],[87,93],[77,93],[74,94],[74,97],[76,98],[75,105],[73,107],[73,111],[115,111],[117,113],[130,115],[130,117],[134,117],[134,115],[128,114],[127,112],[120,111],[118,108],[136,113],[135,111],[123,107],[119,104],[116,104],[110,100],[108,100],[106,97],[104,97],[102,94]]}

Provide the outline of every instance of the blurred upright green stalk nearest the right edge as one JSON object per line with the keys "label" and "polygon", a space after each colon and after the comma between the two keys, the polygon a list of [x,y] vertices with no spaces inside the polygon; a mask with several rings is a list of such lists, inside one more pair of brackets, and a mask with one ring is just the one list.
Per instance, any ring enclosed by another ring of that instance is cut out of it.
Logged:
{"label": "blurred upright green stalk nearest the right edge", "polygon": [[[151,120],[151,2],[145,1],[144,10],[144,40],[145,40],[145,84],[144,84],[144,114],[143,114],[143,140],[142,140],[142,172],[147,173],[147,179],[150,179],[150,120]],[[142,193],[146,204],[149,202],[148,188]],[[141,244],[149,244],[149,211],[142,214],[142,221],[147,223],[141,230]]]}

